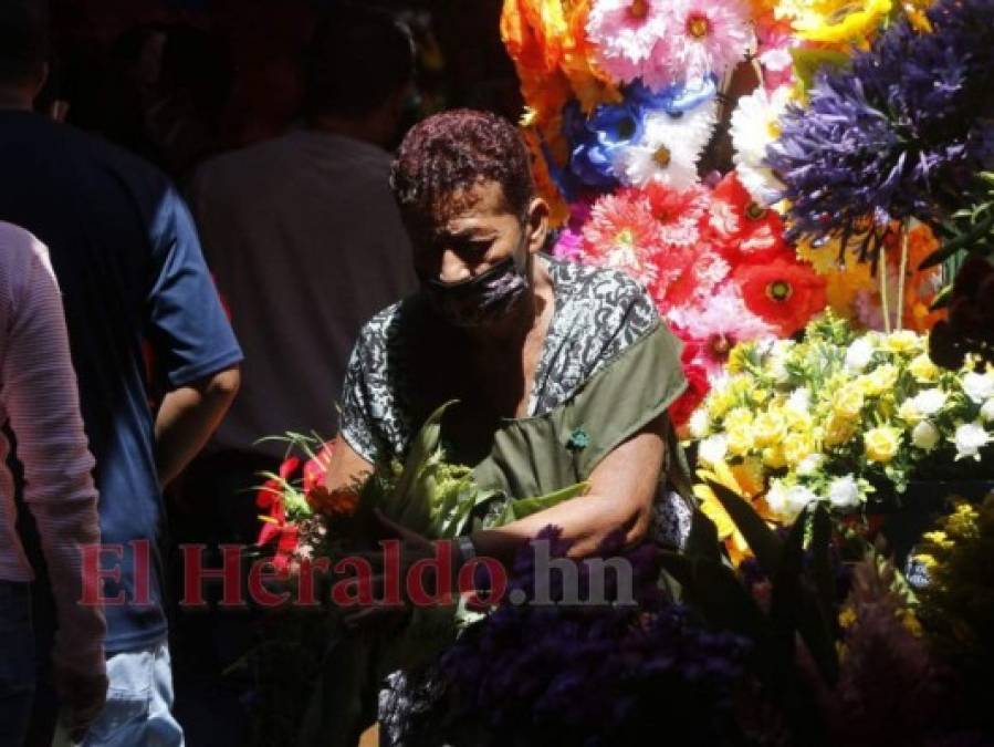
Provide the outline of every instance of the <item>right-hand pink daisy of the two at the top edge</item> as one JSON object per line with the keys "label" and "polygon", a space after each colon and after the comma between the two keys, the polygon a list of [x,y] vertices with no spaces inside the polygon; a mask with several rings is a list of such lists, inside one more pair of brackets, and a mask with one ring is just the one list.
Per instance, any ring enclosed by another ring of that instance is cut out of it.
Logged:
{"label": "right-hand pink daisy of the two at the top edge", "polygon": [[666,38],[642,75],[660,90],[673,83],[721,77],[745,56],[752,41],[749,9],[741,0],[672,0]]}

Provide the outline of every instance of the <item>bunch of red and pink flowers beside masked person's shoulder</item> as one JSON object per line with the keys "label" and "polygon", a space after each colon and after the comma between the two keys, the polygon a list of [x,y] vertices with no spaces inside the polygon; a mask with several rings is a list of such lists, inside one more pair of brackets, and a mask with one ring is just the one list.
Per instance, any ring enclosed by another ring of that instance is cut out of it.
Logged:
{"label": "bunch of red and pink flowers beside masked person's shoulder", "polygon": [[[646,286],[684,341],[699,398],[729,352],[747,340],[792,335],[825,308],[825,281],[799,261],[779,216],[730,174],[713,189],[650,183],[576,204],[553,253],[621,270]],[[694,403],[695,404],[695,403]],[[689,412],[681,403],[676,413]]]}

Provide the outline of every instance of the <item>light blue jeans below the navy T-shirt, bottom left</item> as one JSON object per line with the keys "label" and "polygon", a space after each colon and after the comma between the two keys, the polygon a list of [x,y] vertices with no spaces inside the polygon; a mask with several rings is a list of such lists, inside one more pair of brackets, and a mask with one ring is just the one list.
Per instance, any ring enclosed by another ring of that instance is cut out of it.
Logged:
{"label": "light blue jeans below the navy T-shirt, bottom left", "polygon": [[172,717],[172,670],[165,641],[107,657],[107,704],[83,747],[182,747]]}

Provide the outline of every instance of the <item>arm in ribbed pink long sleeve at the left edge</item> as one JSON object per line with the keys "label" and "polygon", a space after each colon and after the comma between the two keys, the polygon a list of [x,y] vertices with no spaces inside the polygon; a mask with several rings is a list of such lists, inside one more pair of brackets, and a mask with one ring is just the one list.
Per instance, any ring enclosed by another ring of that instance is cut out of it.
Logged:
{"label": "arm in ribbed pink long sleeve at the left edge", "polygon": [[36,253],[44,249],[32,250],[30,269],[11,298],[2,392],[24,466],[24,502],[38,525],[55,599],[55,685],[75,730],[96,717],[107,686],[103,610],[81,603],[82,548],[100,542],[97,494],[62,301]]}

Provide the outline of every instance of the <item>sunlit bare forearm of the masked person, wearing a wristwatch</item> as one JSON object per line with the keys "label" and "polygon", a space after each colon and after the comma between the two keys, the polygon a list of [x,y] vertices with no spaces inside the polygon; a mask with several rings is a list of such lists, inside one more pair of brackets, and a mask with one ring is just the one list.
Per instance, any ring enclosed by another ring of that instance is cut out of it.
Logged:
{"label": "sunlit bare forearm of the masked person, wearing a wristwatch", "polygon": [[626,544],[649,528],[652,501],[666,465],[666,415],[660,415],[608,454],[590,475],[590,491],[496,529],[473,532],[477,554],[510,567],[522,544],[555,525],[574,542],[573,558],[593,553],[610,535],[625,532]]}

